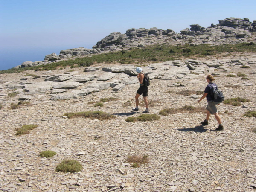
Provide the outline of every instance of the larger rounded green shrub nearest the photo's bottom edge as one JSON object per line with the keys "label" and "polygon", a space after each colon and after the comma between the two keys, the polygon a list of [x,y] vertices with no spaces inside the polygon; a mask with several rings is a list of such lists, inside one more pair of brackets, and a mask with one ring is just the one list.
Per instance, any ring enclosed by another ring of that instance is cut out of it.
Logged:
{"label": "larger rounded green shrub nearest the photo's bottom edge", "polygon": [[64,172],[64,173],[77,173],[83,169],[83,166],[77,160],[63,160],[58,166],[56,167],[57,172]]}

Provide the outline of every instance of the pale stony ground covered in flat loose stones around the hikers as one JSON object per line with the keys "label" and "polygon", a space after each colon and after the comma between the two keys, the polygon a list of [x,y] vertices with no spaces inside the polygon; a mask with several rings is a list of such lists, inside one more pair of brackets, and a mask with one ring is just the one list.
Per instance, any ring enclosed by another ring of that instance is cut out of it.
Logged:
{"label": "pale stony ground covered in flat loose stones around the hikers", "polygon": [[[202,61],[198,75],[186,74],[177,79],[166,79],[158,73],[152,79],[148,99],[158,103],[149,108],[151,114],[158,114],[164,108],[179,108],[184,105],[206,106],[204,99],[198,104],[196,96],[182,96],[166,93],[171,90],[201,90],[207,85],[205,80],[208,70],[216,73],[216,83],[223,90],[226,99],[242,97],[250,102],[242,106],[221,104],[218,106],[224,131],[216,132],[218,126],[214,116],[209,125],[202,127],[200,121],[205,113],[178,113],[161,116],[158,121],[125,122],[133,113],[134,96],[138,83],[126,84],[122,90],[112,88],[78,96],[70,100],[50,100],[55,94],[50,90],[36,92],[35,87],[29,92],[7,97],[20,82],[43,82],[46,74],[38,71],[26,73],[41,76],[40,79],[25,78],[23,73],[0,75],[0,190],[8,192],[64,192],[64,191],[125,191],[125,192],[253,192],[256,188],[256,118],[244,117],[247,111],[256,110],[255,73],[256,55],[246,54],[230,58],[219,58],[219,66],[209,68],[207,61]],[[231,60],[237,59],[237,62]],[[242,61],[239,65],[239,62]],[[183,63],[184,61],[182,61]],[[212,60],[209,61],[213,62]],[[215,61],[214,61],[215,62]],[[217,62],[217,61],[216,61]],[[245,63],[243,63],[245,62]],[[241,65],[251,68],[241,69]],[[101,67],[107,67],[101,65]],[[75,69],[76,76],[94,72],[83,72]],[[165,69],[166,70],[166,69]],[[196,70],[196,69],[195,69]],[[64,74],[70,69],[55,70],[48,74]],[[249,80],[241,77],[226,77],[238,72],[248,75]],[[99,70],[99,75],[103,74]],[[154,73],[153,73],[154,74]],[[119,75],[120,76],[120,75]],[[94,79],[92,82],[98,82]],[[133,76],[131,79],[134,78]],[[153,77],[152,77],[153,78]],[[72,81],[72,80],[68,80]],[[112,81],[111,79],[108,81]],[[108,82],[107,81],[107,82]],[[104,81],[105,82],[105,81]],[[174,83],[185,86],[178,86]],[[47,82],[57,83],[57,82]],[[80,83],[78,90],[86,87]],[[8,85],[8,86],[6,86]],[[225,85],[240,85],[239,88]],[[31,88],[31,87],[30,87]],[[12,89],[12,90],[11,90]],[[67,90],[71,93],[71,89]],[[23,95],[30,96],[31,106],[9,109],[11,103],[17,103]],[[62,94],[62,93],[60,93]],[[89,101],[99,102],[101,98],[115,97],[118,101],[104,103],[103,107],[93,107]],[[199,96],[200,98],[200,96]],[[123,106],[126,101],[131,106]],[[140,98],[140,101],[142,98]],[[66,119],[67,112],[105,111],[116,116],[107,121],[87,118]],[[140,107],[140,112],[144,107]],[[230,113],[224,113],[226,110]],[[16,136],[15,128],[22,125],[36,124],[38,128],[30,134]],[[96,135],[101,136],[94,140]],[[41,151],[52,150],[57,154],[50,158],[39,157]],[[134,154],[147,154],[149,163],[138,168],[131,167],[127,157]],[[64,174],[55,172],[62,160],[75,159],[83,165],[79,173]]]}

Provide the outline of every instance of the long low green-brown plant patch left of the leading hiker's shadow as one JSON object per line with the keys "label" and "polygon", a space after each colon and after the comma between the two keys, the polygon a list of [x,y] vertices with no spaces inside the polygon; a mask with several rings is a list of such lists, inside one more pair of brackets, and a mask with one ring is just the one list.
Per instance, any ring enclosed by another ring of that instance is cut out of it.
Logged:
{"label": "long low green-brown plant patch left of the leading hiker's shadow", "polygon": [[116,118],[116,116],[113,116],[103,111],[85,111],[85,112],[77,112],[77,113],[65,113],[63,116],[67,116],[67,118],[69,119],[76,118],[76,117],[84,117],[84,118],[90,118],[90,119],[99,119],[101,121]]}

